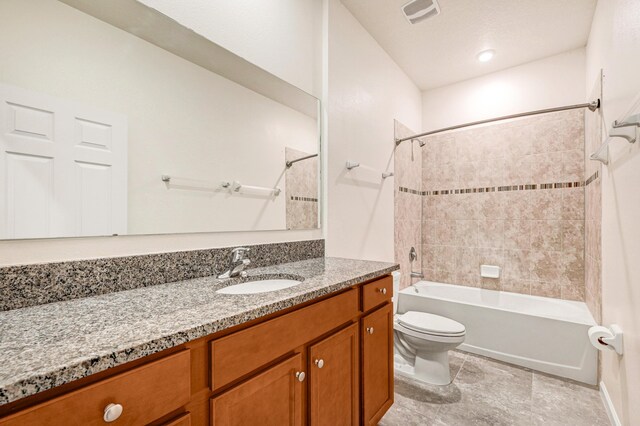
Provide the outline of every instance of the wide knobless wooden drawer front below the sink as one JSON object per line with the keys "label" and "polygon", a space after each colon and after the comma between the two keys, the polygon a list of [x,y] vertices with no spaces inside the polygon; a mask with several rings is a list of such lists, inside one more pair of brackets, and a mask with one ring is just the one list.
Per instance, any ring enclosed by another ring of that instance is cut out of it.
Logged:
{"label": "wide knobless wooden drawer front below the sink", "polygon": [[358,315],[358,291],[330,299],[211,342],[211,387],[218,389]]}

